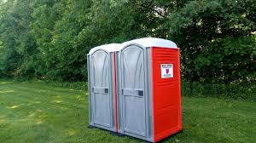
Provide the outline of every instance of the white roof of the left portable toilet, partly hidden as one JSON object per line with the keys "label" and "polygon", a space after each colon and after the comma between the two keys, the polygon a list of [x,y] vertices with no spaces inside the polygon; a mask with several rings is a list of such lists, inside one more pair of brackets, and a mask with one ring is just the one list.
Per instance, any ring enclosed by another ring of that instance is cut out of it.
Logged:
{"label": "white roof of the left portable toilet, partly hidden", "polygon": [[107,52],[119,51],[121,49],[120,45],[121,44],[119,44],[119,43],[110,43],[110,44],[105,44],[105,45],[97,46],[97,47],[95,47],[93,49],[90,49],[89,54],[93,54],[98,49],[103,49],[103,50],[106,50]]}

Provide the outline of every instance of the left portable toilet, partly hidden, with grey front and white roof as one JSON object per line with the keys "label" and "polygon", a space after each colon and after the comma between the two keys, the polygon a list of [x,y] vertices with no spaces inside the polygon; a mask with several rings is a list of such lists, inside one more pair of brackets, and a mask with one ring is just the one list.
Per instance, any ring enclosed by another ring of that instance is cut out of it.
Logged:
{"label": "left portable toilet, partly hidden, with grey front and white roof", "polygon": [[90,126],[117,132],[115,52],[117,43],[90,49],[87,54]]}

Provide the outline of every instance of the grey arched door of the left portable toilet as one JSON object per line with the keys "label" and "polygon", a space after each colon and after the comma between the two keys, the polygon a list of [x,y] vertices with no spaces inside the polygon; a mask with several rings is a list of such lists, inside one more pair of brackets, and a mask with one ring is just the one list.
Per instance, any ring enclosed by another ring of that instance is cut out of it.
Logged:
{"label": "grey arched door of the left portable toilet", "polygon": [[93,122],[110,128],[109,57],[102,50],[92,54]]}

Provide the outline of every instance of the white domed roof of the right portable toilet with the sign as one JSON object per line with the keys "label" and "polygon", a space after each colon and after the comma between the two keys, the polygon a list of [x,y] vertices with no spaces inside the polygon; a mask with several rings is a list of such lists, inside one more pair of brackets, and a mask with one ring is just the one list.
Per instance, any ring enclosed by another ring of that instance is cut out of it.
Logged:
{"label": "white domed roof of the right portable toilet with the sign", "polygon": [[159,48],[168,48],[168,49],[178,49],[177,44],[173,43],[170,40],[161,39],[157,37],[143,37],[131,41],[127,41],[125,43],[122,43],[122,45],[125,47],[128,44],[131,43],[138,43],[142,45],[143,47],[159,47]]}

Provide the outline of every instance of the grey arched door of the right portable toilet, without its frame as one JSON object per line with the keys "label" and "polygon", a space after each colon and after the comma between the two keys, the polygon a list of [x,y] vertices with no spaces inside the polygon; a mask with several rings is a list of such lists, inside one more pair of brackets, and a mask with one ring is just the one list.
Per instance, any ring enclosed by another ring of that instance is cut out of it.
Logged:
{"label": "grey arched door of the right portable toilet, without its frame", "polygon": [[125,48],[120,62],[124,131],[146,136],[143,49],[135,45]]}

